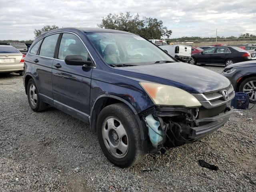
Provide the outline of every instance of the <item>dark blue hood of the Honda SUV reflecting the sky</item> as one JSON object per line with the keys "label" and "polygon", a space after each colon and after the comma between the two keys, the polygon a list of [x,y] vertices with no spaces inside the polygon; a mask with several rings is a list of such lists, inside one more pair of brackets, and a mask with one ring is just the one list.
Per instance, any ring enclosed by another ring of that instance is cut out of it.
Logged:
{"label": "dark blue hood of the Honda SUV reflecting the sky", "polygon": [[229,80],[212,70],[182,62],[115,68],[116,73],[175,86],[189,93],[205,93],[226,88]]}

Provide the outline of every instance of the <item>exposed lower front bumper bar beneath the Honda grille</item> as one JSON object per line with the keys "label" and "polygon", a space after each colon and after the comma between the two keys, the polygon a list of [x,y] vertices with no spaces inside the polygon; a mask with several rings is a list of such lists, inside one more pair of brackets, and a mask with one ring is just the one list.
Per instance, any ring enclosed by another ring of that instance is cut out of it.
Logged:
{"label": "exposed lower front bumper bar beneath the Honda grille", "polygon": [[209,122],[209,123],[203,126],[192,127],[188,137],[193,139],[202,138],[218,130],[222,125],[224,125],[228,121],[231,114],[233,114],[233,110],[227,107],[226,111],[219,114],[218,116],[195,120],[195,122]]}

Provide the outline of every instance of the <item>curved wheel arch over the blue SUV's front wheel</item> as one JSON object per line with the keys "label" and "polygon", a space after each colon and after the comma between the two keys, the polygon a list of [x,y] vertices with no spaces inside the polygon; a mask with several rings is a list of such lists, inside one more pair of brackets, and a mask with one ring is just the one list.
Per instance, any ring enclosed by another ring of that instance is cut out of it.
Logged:
{"label": "curved wheel arch over the blue SUV's front wheel", "polygon": [[111,104],[115,103],[124,103],[126,104],[130,110],[134,113],[134,116],[136,118],[136,121],[140,128],[140,136],[142,140],[145,140],[147,138],[146,133],[144,131],[144,124],[142,120],[140,120],[138,116],[138,112],[135,110],[135,108],[130,104],[128,101],[124,100],[123,98],[120,98],[118,96],[110,95],[110,94],[102,94],[96,98],[94,101],[92,108],[90,110],[90,116],[89,116],[89,122],[90,122],[90,129],[92,132],[96,132],[96,122],[97,117],[100,114],[100,111]]}

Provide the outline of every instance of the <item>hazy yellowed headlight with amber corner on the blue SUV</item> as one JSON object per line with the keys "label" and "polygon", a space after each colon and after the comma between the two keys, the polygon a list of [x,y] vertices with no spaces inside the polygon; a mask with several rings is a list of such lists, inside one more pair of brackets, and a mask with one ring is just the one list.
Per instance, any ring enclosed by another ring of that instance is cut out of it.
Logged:
{"label": "hazy yellowed headlight with amber corner on the blue SUV", "polygon": [[156,105],[199,107],[200,102],[190,93],[173,86],[140,82]]}

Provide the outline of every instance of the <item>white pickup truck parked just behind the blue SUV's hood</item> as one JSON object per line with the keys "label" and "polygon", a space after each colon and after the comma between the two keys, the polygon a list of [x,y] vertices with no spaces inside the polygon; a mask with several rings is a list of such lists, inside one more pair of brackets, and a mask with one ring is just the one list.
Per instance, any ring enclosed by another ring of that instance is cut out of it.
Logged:
{"label": "white pickup truck parked just behind the blue SUV's hood", "polygon": [[166,45],[159,46],[162,50],[166,51],[169,55],[182,62],[190,62],[191,47],[186,45]]}

